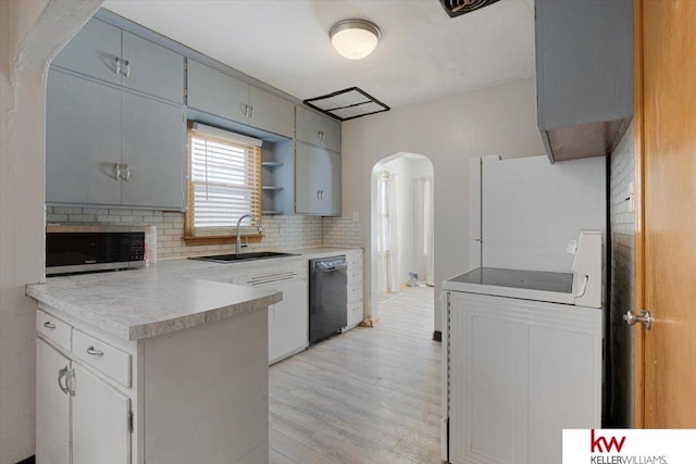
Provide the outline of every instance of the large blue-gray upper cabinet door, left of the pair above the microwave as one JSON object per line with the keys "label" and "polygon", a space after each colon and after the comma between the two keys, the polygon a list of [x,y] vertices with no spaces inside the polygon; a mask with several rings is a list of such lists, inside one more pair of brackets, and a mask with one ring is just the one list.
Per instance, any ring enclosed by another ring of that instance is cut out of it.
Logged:
{"label": "large blue-gray upper cabinet door, left of the pair above the microwave", "polygon": [[46,201],[121,203],[121,91],[51,71],[46,102]]}

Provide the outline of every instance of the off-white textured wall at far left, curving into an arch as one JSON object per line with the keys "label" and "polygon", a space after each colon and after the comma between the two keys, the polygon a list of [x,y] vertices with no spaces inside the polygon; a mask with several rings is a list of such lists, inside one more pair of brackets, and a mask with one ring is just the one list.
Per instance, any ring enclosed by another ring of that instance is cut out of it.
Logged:
{"label": "off-white textured wall at far left, curving into an arch", "polygon": [[34,454],[35,311],[44,278],[46,68],[101,1],[0,1],[0,464]]}

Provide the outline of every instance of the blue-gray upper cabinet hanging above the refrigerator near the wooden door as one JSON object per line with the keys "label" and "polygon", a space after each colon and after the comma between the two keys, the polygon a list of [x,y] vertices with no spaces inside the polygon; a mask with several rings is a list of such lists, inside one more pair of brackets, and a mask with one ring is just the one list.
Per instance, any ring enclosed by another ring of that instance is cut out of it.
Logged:
{"label": "blue-gray upper cabinet hanging above the refrigerator near the wooden door", "polygon": [[549,158],[607,154],[633,115],[633,2],[535,8],[537,124]]}

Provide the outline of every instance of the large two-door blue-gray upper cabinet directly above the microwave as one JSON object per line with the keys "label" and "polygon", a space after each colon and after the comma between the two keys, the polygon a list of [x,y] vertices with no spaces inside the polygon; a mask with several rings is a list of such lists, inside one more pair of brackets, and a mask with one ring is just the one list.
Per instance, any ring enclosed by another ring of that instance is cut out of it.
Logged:
{"label": "large two-door blue-gray upper cabinet directly above the microwave", "polygon": [[182,106],[51,70],[46,202],[184,208]]}

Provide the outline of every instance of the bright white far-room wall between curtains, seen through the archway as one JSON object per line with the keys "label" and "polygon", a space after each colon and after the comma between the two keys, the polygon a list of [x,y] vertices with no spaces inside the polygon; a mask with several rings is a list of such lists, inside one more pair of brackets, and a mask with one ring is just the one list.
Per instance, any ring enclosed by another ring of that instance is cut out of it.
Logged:
{"label": "bright white far-room wall between curtains, seen through the archway", "polygon": [[[415,271],[415,187],[413,181],[423,176],[433,175],[433,165],[426,158],[406,154],[384,164],[384,167],[398,173],[398,230],[397,283],[409,280],[409,272]],[[373,186],[373,188],[375,188]]]}

